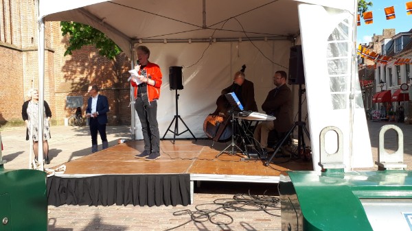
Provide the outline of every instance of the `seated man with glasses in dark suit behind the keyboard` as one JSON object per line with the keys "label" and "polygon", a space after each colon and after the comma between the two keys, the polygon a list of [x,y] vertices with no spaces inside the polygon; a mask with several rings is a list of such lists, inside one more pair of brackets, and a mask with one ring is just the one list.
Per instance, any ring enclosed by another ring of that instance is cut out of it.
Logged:
{"label": "seated man with glasses in dark suit behind the keyboard", "polygon": [[273,83],[276,88],[269,91],[262,104],[262,109],[266,114],[270,114],[276,117],[276,119],[259,123],[253,134],[255,140],[260,142],[260,147],[266,149],[266,151],[273,151],[273,149],[268,147],[268,134],[271,130],[275,130],[277,139],[280,139],[293,125],[292,91],[286,86],[286,78],[287,75],[284,71],[276,71],[273,76]]}

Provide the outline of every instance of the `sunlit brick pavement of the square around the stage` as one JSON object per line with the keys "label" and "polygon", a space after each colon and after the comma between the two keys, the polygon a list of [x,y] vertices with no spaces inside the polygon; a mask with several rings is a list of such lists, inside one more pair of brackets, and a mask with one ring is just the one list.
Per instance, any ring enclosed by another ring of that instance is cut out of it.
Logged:
{"label": "sunlit brick pavement of the square around the stage", "polygon": [[[368,122],[374,160],[377,160],[378,134],[382,125],[390,122]],[[404,135],[404,162],[412,169],[412,125],[398,125]],[[119,138],[128,138],[127,126],[107,127],[109,146],[115,145]],[[28,167],[30,145],[25,141],[24,127],[2,128],[1,137],[5,150],[3,159],[8,162],[6,169]],[[52,139],[49,141],[49,156],[54,167],[64,162],[86,156],[90,153],[89,127],[53,126]],[[385,149],[397,148],[395,132],[389,131],[385,136]],[[376,170],[377,167],[367,169]],[[194,222],[188,211],[196,209],[215,210],[220,207],[217,202],[233,199],[238,193],[251,195],[277,195],[277,184],[253,184],[232,182],[202,182],[195,189],[194,204],[189,206],[49,206],[49,231],[87,231],[87,230],[281,230],[280,210],[243,212],[229,211],[229,215],[216,215],[211,221]],[[219,200],[222,199],[222,200]],[[246,208],[251,208],[247,206]],[[221,209],[218,211],[222,211]],[[178,215],[174,215],[176,212]],[[269,214],[271,213],[271,214]],[[233,220],[231,220],[233,219]],[[201,217],[201,220],[204,220]],[[219,225],[219,223],[221,223]]]}

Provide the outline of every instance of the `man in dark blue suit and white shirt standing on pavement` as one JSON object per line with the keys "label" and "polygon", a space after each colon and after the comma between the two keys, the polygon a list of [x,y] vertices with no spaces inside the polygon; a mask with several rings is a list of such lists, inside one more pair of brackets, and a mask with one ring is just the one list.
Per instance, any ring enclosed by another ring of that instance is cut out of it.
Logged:
{"label": "man in dark blue suit and white shirt standing on pavement", "polygon": [[106,137],[106,123],[108,100],[104,95],[99,94],[99,88],[96,85],[89,86],[90,98],[87,100],[87,118],[89,118],[91,134],[91,152],[98,151],[98,132],[102,138],[102,149],[108,147]]}

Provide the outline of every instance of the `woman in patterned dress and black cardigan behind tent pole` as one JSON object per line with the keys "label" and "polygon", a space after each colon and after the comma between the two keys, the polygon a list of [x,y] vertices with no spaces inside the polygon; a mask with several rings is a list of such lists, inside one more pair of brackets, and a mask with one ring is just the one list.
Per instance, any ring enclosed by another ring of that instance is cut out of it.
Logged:
{"label": "woman in patterned dress and black cardigan behind tent pole", "polygon": [[[33,140],[33,151],[35,160],[37,160],[38,155],[38,90],[30,88],[27,91],[27,97],[29,100],[25,101],[21,107],[21,117],[25,122],[27,127],[26,130],[26,141],[32,137]],[[43,122],[43,153],[45,154],[45,163],[48,165],[50,163],[49,159],[49,143],[47,140],[51,138],[50,136],[50,124],[49,121],[52,119],[52,111],[50,110],[49,104],[44,101],[44,122]]]}

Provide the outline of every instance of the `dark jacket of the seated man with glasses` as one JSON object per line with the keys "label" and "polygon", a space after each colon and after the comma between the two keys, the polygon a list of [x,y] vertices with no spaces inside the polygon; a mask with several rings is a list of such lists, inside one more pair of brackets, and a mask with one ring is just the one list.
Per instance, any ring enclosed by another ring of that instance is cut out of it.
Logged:
{"label": "dark jacket of the seated man with glasses", "polygon": [[277,132],[288,132],[293,125],[293,101],[290,88],[283,84],[269,91],[262,104],[262,110],[266,114],[276,117],[273,123],[275,123],[275,130]]}

